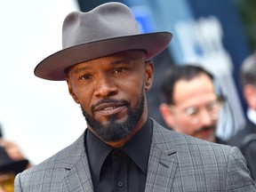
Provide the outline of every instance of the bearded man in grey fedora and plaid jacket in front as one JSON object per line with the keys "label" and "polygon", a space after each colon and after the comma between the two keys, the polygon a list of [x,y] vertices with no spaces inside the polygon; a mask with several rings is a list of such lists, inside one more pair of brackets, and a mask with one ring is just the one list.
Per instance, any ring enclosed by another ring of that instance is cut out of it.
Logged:
{"label": "bearded man in grey fedora and plaid jacket in front", "polygon": [[65,80],[88,129],[68,148],[19,174],[15,191],[256,191],[237,148],[171,132],[148,118],[151,58],[168,32],[140,34],[130,9],[101,4],[72,12],[63,50],[36,76]]}

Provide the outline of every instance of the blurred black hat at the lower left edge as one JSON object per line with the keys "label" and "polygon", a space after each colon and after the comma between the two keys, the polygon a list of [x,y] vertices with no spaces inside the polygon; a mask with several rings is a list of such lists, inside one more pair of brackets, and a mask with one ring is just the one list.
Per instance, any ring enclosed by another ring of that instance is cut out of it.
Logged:
{"label": "blurred black hat at the lower left edge", "polygon": [[28,159],[13,160],[8,156],[7,152],[3,147],[0,147],[0,172],[23,172],[28,166]]}

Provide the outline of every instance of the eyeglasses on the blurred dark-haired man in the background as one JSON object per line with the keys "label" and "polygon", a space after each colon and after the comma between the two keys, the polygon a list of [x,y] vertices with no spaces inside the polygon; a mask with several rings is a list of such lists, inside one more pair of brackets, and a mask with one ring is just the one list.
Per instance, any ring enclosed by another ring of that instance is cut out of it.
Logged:
{"label": "eyeglasses on the blurred dark-haired man in the background", "polygon": [[222,104],[223,100],[218,99],[212,100],[201,108],[189,107],[179,111],[179,109],[173,105],[169,105],[169,107],[172,111],[175,111],[176,113],[180,113],[182,116],[187,117],[190,120],[191,124],[198,124],[200,122],[201,112],[203,109],[207,111],[209,116],[211,116],[212,120],[218,119],[218,117],[220,116],[220,109],[222,107]]}

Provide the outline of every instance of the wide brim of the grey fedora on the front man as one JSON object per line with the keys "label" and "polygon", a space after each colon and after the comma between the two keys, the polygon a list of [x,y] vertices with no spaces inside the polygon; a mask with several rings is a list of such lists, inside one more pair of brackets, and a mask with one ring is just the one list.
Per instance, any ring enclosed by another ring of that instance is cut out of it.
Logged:
{"label": "wide brim of the grey fedora on the front man", "polygon": [[149,60],[162,52],[171,40],[171,33],[156,32],[78,44],[45,58],[36,66],[34,73],[44,79],[62,81],[66,76],[64,70],[81,62],[128,50],[145,50]]}

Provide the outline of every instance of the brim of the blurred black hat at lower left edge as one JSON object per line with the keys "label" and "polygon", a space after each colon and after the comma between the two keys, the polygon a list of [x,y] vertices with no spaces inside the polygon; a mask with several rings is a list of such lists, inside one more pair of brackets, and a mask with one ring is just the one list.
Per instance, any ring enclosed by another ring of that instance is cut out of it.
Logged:
{"label": "brim of the blurred black hat at lower left edge", "polygon": [[28,159],[20,160],[20,161],[9,161],[5,164],[0,165],[0,172],[14,172],[19,173],[23,172],[28,166]]}

